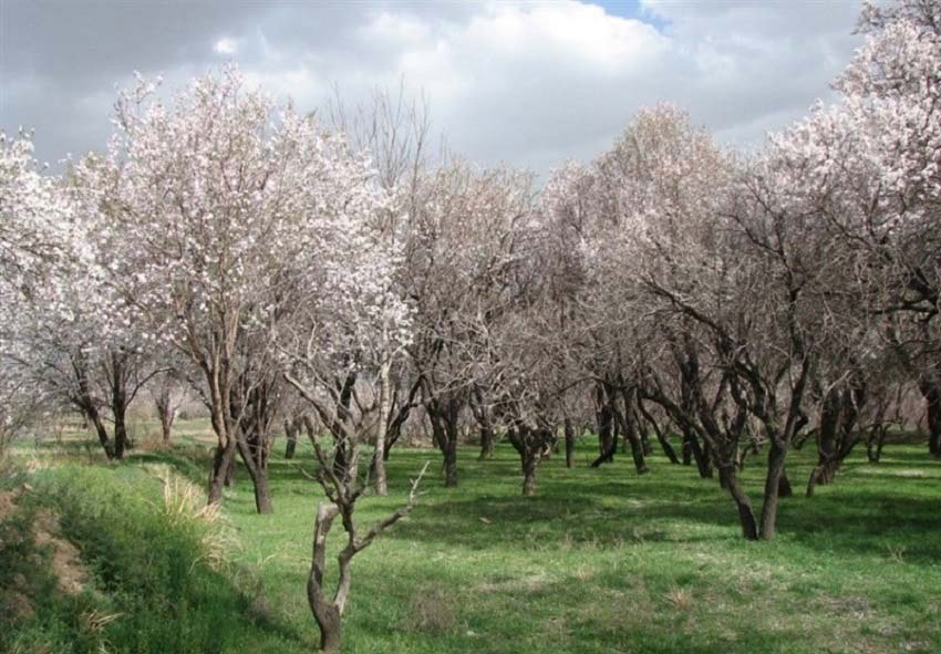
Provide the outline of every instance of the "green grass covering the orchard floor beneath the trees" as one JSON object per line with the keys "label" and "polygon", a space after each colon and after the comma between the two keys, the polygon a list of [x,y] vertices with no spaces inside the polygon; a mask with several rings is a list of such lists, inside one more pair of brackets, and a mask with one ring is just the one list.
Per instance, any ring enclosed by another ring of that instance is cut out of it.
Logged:
{"label": "green grass covering the orchard floor beneath the trees", "polygon": [[[34,456],[31,449],[20,454]],[[459,487],[430,474],[412,516],[355,559],[344,651],[941,652],[941,464],[922,446],[889,445],[878,465],[860,450],[835,485],[805,499],[810,449],[792,453],[798,496],[784,500],[771,543],[743,541],[717,482],[660,456],[643,477],[628,456],[590,469],[594,446],[586,442],[573,469],[561,457],[546,461],[537,497],[525,498],[511,448],[483,463],[463,450]],[[156,498],[159,485],[142,481],[143,470],[169,464],[201,484],[203,465],[187,458],[195,451],[137,453],[95,470],[91,484]],[[435,451],[393,451],[391,495],[363,499],[359,522],[399,506],[410,475],[428,459],[437,473]],[[757,502],[761,466],[752,463],[745,479]],[[218,651],[316,650],[304,582],[321,494],[301,467],[312,471],[309,448],[294,461],[271,461],[273,516],[255,515],[245,475],[226,498],[232,565],[205,572],[198,592],[185,595],[197,635],[220,615],[239,625]],[[339,526],[332,536],[335,549]],[[103,627],[113,633],[111,651],[161,651],[158,640],[125,647],[122,621]],[[194,636],[164,651],[201,651],[195,643],[205,647]]]}

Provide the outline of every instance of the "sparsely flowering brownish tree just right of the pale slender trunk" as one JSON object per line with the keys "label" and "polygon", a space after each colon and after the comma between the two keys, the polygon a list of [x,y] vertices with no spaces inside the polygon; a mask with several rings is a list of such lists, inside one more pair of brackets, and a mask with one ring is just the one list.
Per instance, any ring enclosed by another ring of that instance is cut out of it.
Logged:
{"label": "sparsely flowering brownish tree just right of the pale slender trunk", "polygon": [[[489,363],[488,331],[508,307],[516,237],[531,196],[528,174],[475,170],[459,160],[418,183],[403,271],[415,309],[409,354],[444,456],[446,486],[457,485],[458,421],[479,393],[475,371]],[[492,434],[489,404],[477,401],[474,411]]]}

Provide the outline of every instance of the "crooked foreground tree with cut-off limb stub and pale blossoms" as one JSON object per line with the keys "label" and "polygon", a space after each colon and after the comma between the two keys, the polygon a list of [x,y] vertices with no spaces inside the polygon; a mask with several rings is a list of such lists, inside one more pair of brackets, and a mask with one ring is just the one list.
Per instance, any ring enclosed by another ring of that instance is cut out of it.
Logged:
{"label": "crooked foreground tree with cut-off limb stub and pale blossoms", "polygon": [[[376,432],[376,422],[381,425],[386,417],[376,418],[375,412],[365,409],[361,396],[368,393],[383,402],[390,367],[412,340],[412,310],[396,286],[402,264],[399,245],[375,220],[387,208],[387,194],[378,184],[368,184],[372,179],[364,162],[350,156],[345,163],[360,174],[355,184],[341,177],[332,188],[324,185],[317,222],[299,235],[303,248],[286,272],[291,310],[275,330],[285,380],[333,440],[325,451],[313,438],[316,479],[327,501],[317,509],[307,585],[324,652],[340,650],[353,557],[412,510],[424,474],[423,469],[413,481],[402,508],[365,531],[358,528],[355,505],[369,488],[359,474],[361,446]],[[330,593],[324,588],[327,538],[338,517],[347,542],[338,556],[337,588]]]}

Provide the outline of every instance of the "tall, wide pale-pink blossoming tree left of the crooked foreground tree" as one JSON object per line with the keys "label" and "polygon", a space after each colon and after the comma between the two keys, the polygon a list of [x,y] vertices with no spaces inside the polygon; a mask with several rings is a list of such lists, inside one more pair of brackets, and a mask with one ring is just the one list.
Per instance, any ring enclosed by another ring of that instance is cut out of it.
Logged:
{"label": "tall, wide pale-pink blossoming tree left of the crooked foreground tree", "polygon": [[268,510],[267,458],[246,455],[265,451],[271,434],[249,435],[247,412],[272,407],[259,394],[270,398],[268,386],[281,383],[271,352],[294,301],[289,272],[321,219],[371,209],[368,168],[340,136],[247,89],[232,66],[195,80],[169,106],[154,91],[141,80],[120,95],[107,156],[81,170],[112,228],[108,283],[145,339],[201,372],[217,436],[209,501],[221,499],[239,449]]}

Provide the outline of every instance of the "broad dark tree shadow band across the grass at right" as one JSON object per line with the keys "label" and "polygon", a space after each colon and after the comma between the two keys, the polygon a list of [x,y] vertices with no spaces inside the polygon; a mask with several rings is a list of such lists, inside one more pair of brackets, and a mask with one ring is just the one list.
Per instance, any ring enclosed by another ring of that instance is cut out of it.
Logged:
{"label": "broad dark tree shadow band across the grass at right", "polygon": [[[395,476],[404,476],[414,465],[413,457],[392,469]],[[941,558],[937,481],[858,474],[873,467],[930,470],[934,466],[927,455],[911,449],[890,451],[882,464],[847,464],[834,485],[819,487],[815,497],[805,498],[803,480],[809,466],[806,460],[795,460],[790,475],[795,496],[780,501],[777,538],[808,550],[887,560],[898,557],[895,548],[904,543],[906,562],[934,562]],[[618,546],[741,540],[737,512],[727,491],[718,488],[716,479],[696,478],[690,468],[664,464],[637,477],[625,465],[617,470],[567,470],[558,464],[545,467],[540,468],[536,497],[527,498],[519,495],[516,461],[466,464],[469,469],[462,473],[472,481],[456,489],[426,486],[427,501],[386,538],[475,550],[498,544],[550,548],[566,542]],[[759,486],[755,480],[762,471],[762,466],[754,465],[748,473],[756,512],[762,495],[754,487]]]}

